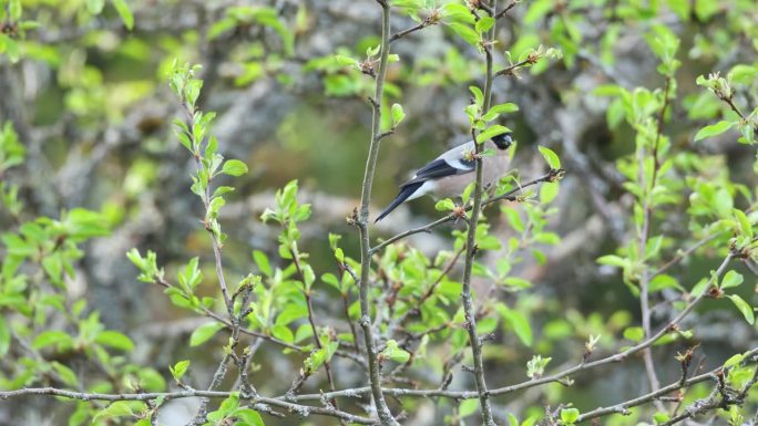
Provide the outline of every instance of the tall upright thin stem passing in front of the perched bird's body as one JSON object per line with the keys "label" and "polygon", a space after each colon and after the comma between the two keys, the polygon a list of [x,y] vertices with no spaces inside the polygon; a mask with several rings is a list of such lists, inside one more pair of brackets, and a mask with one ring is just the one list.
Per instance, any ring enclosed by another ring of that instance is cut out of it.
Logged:
{"label": "tall upright thin stem passing in front of the perched bird's body", "polygon": [[[493,3],[493,9],[496,7],[496,1]],[[482,44],[484,46],[484,56],[486,61],[486,74],[484,76],[484,102],[482,111],[490,110],[492,98],[492,50],[490,42],[494,40],[495,25],[492,25],[488,32],[488,40]],[[473,133],[473,132],[472,132]],[[475,141],[474,135],[474,141]],[[474,150],[477,154],[481,153],[481,145],[474,143]],[[461,290],[461,301],[463,303],[463,313],[465,315],[465,329],[469,332],[469,344],[471,345],[471,353],[473,355],[473,374],[477,384],[477,393],[479,394],[479,409],[482,415],[482,422],[485,426],[495,426],[492,416],[492,406],[490,405],[490,394],[486,391],[486,381],[484,380],[484,363],[482,360],[482,342],[479,340],[477,333],[477,316],[474,314],[473,298],[471,294],[471,276],[473,270],[474,256],[477,254],[477,226],[479,225],[479,216],[482,211],[482,158],[475,156],[477,164],[477,180],[474,181],[473,207],[471,208],[471,217],[469,218],[469,232],[465,239],[465,264],[463,267],[463,289]]]}

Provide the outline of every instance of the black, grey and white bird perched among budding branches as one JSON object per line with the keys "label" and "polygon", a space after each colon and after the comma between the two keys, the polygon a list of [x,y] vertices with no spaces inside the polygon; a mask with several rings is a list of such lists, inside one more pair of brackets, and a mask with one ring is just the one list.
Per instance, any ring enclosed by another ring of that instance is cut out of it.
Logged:
{"label": "black, grey and white bird perched among budding branches", "polygon": [[[482,183],[484,186],[495,184],[508,172],[511,156],[508,148],[513,144],[510,133],[492,137],[484,143],[484,148],[494,146],[495,154],[482,158]],[[489,146],[488,146],[489,145]],[[434,193],[442,197],[455,197],[471,184],[477,163],[467,153],[474,152],[474,142],[458,145],[421,167],[410,180],[400,185],[400,193],[390,205],[377,217],[375,224],[383,219],[403,201]]]}

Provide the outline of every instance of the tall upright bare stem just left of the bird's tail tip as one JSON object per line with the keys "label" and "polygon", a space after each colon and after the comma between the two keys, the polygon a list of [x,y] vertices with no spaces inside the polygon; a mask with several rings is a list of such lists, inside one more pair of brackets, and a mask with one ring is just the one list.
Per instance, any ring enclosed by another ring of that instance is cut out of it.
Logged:
{"label": "tall upright bare stem just left of the bird's tail tip", "polygon": [[363,331],[363,342],[366,344],[366,356],[369,365],[369,384],[373,396],[373,404],[383,426],[397,426],[398,422],[392,417],[392,413],[387,406],[385,395],[381,393],[380,365],[377,361],[377,347],[373,340],[371,326],[371,301],[369,297],[371,253],[368,229],[369,202],[371,200],[371,185],[373,184],[373,173],[377,167],[379,145],[382,138],[381,132],[381,103],[385,96],[385,79],[387,77],[387,65],[389,63],[389,38],[390,38],[390,6],[387,0],[377,0],[381,6],[381,53],[379,59],[379,72],[376,77],[376,91],[371,105],[373,113],[371,116],[371,141],[369,154],[366,160],[366,170],[360,195],[360,212],[356,225],[360,231],[360,326]]}

